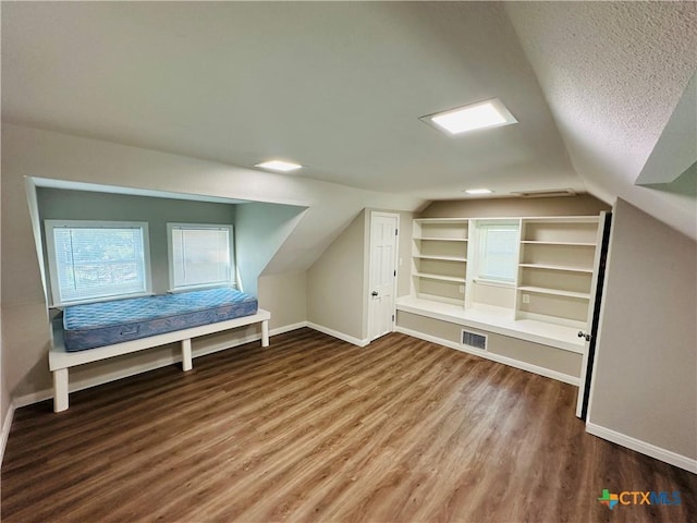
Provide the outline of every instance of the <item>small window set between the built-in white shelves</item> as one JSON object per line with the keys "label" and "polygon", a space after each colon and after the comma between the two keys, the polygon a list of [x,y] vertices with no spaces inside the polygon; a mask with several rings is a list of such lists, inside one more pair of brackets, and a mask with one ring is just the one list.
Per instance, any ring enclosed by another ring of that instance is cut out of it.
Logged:
{"label": "small window set between the built-in white shelves", "polygon": [[511,221],[477,223],[477,278],[515,283],[518,254],[518,223]]}

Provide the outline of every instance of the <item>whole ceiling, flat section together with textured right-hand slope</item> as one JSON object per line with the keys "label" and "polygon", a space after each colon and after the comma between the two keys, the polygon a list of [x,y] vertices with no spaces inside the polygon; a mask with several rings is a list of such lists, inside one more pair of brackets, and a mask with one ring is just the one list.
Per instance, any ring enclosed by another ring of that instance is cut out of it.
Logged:
{"label": "whole ceiling, flat section together with textured right-hand slope", "polygon": [[[588,190],[695,238],[694,196],[635,180],[696,35],[674,2],[5,2],[2,117],[427,199]],[[519,123],[418,120],[491,97]]]}

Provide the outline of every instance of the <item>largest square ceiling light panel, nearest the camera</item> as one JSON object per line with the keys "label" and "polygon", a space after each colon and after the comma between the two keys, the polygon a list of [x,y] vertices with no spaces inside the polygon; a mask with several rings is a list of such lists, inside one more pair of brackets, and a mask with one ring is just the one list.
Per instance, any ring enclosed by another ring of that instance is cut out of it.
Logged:
{"label": "largest square ceiling light panel, nearest the camera", "polygon": [[501,127],[517,123],[499,98],[457,107],[419,118],[425,123],[450,134],[466,133],[478,129]]}

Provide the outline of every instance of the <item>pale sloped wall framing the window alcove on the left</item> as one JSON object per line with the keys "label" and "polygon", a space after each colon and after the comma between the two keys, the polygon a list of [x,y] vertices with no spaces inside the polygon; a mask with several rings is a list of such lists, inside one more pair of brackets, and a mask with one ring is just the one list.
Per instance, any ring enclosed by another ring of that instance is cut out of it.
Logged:
{"label": "pale sloped wall framing the window alcove on the left", "polygon": [[[366,206],[421,200],[17,125],[2,129],[2,364],[13,397],[50,387],[49,323],[25,177],[308,207],[264,276],[303,273]],[[38,222],[38,217],[34,218]],[[41,264],[42,265],[42,264]],[[277,280],[270,279],[268,285]],[[288,285],[284,287],[288,289]],[[261,293],[261,290],[259,290]],[[268,288],[267,295],[273,291]],[[294,306],[278,300],[277,306]],[[264,306],[264,303],[262,305]],[[292,316],[273,311],[272,315]],[[167,354],[163,357],[169,357]],[[99,369],[93,369],[98,374]],[[115,369],[119,373],[121,369]]]}

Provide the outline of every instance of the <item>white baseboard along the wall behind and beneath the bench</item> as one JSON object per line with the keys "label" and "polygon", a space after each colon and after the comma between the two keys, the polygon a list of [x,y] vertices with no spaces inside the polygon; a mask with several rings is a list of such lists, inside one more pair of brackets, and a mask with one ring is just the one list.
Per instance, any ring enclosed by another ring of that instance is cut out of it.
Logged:
{"label": "white baseboard along the wall behind and beneath the bench", "polygon": [[[303,327],[307,327],[305,321],[301,321],[297,324],[285,325],[282,327],[277,327],[276,329],[269,330],[269,336],[283,335],[285,332],[290,332],[291,330],[301,329]],[[261,339],[261,335],[249,335],[243,338],[239,338],[236,340],[231,340],[222,343],[213,343],[198,350],[194,349],[193,356],[194,358],[198,356],[205,356],[207,354],[212,354],[215,352],[224,351],[228,349],[233,349],[235,346],[244,345],[245,343],[252,343],[254,341],[259,341]],[[271,345],[272,348],[273,345]],[[271,349],[270,348],[270,349]],[[70,392],[76,392],[78,390],[89,389],[91,387],[97,387],[98,385],[105,385],[110,381],[115,381],[117,379],[127,378],[130,376],[135,376],[138,374],[147,373],[149,370],[155,370],[157,368],[167,367],[168,365],[173,365],[182,361],[182,356],[178,351],[178,354],[171,358],[160,360],[158,362],[152,362],[148,365],[142,365],[135,368],[127,368],[123,370],[117,370],[113,373],[102,374],[100,376],[87,379],[80,379],[75,381],[71,381],[69,390]],[[39,403],[45,400],[50,400],[53,398],[53,389],[45,389],[36,392],[32,392],[28,394],[24,394],[14,399],[13,405],[17,409],[26,405],[32,405],[34,403]],[[4,431],[4,425],[3,425]]]}

